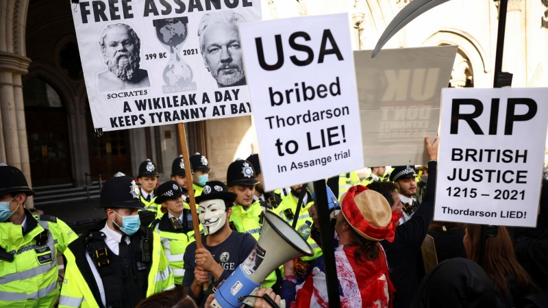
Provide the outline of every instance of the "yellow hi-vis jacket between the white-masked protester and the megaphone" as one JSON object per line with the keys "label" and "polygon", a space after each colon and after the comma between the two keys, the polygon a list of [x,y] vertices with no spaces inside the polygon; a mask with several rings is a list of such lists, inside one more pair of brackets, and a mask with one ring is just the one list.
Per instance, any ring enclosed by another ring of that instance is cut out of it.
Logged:
{"label": "yellow hi-vis jacket between the white-masked protester and the megaphone", "polygon": [[[256,240],[259,240],[262,229],[261,202],[262,201],[260,200],[256,200],[251,203],[247,211],[241,205],[234,205],[229,219],[230,222],[234,223],[236,231],[251,234]],[[271,272],[261,285],[264,287],[272,287],[274,283],[276,283],[276,280],[276,272]]]}

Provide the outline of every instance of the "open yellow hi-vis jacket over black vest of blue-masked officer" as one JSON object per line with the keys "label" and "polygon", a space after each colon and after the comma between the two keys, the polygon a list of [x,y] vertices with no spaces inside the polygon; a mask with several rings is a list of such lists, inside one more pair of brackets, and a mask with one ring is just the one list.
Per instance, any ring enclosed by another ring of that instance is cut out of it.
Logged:
{"label": "open yellow hi-vis jacket over black vest of blue-masked officer", "polygon": [[[160,235],[157,233],[152,234],[152,263],[148,277],[147,297],[164,290],[173,289],[173,287],[175,287],[173,272],[169,266],[166,256],[164,255],[164,252],[162,251]],[[97,304],[97,301],[93,297],[90,287],[88,286],[88,282],[84,279],[82,272],[80,272],[76,265],[75,255],[70,248],[66,250],[65,257],[67,265],[61,288],[59,307],[99,308],[99,305]],[[93,271],[95,265],[90,264],[90,268],[92,268]],[[99,291],[102,292],[101,300],[103,300],[104,290],[101,290],[103,284],[101,281],[98,283],[97,279],[101,279],[98,274],[95,276],[95,281],[90,283],[97,283]]]}

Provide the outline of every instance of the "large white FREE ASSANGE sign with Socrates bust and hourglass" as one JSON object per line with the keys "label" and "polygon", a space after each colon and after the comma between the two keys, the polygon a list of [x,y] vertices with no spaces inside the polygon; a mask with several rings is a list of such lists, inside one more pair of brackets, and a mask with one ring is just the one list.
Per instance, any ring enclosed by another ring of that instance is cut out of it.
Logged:
{"label": "large white FREE ASSANGE sign with Socrates bust and hourglass", "polygon": [[251,114],[236,25],[260,18],[260,0],[80,0],[73,19],[94,127]]}

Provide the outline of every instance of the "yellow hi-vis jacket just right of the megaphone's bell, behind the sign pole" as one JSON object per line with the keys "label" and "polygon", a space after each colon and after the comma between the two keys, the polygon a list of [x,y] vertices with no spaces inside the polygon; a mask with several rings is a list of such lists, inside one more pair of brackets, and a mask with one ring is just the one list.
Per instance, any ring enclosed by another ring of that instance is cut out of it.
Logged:
{"label": "yellow hi-vis jacket just right of the megaphone's bell, behind the sign pole", "polygon": [[[299,212],[299,217],[297,218],[297,228],[301,227],[302,224],[305,224],[307,221],[312,221],[312,217],[310,217],[310,214],[308,214],[308,209],[314,204],[314,201],[312,200],[312,196],[309,192],[307,192],[308,199],[306,201],[306,205],[304,207],[301,207],[301,211]],[[291,215],[295,215],[297,211],[297,202],[299,202],[298,198],[295,198],[292,194],[289,194],[288,196],[284,196],[282,199],[282,204],[279,205],[277,208],[276,213],[278,216],[284,218],[290,225],[293,224],[293,220],[295,218],[290,219],[290,217],[287,217],[285,214],[285,211],[290,211]],[[310,244],[310,247],[314,250],[314,255],[312,257],[304,256],[300,259],[304,261],[312,261],[316,259],[317,257],[323,255],[323,251],[321,250],[321,247],[316,244],[316,241],[312,239],[312,237],[308,237],[308,240],[306,240],[308,244]]]}

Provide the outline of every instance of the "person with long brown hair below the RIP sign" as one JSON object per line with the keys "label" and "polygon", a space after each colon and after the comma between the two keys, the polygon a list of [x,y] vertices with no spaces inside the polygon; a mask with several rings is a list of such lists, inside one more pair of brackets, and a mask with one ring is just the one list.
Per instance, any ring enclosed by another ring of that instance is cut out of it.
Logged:
{"label": "person with long brown hair below the RIP sign", "polygon": [[[479,245],[482,226],[466,224],[464,247],[468,259],[479,262]],[[497,307],[523,307],[524,297],[537,292],[527,272],[519,265],[506,227],[499,226],[496,237],[488,237],[485,246],[483,268],[493,280]]]}

